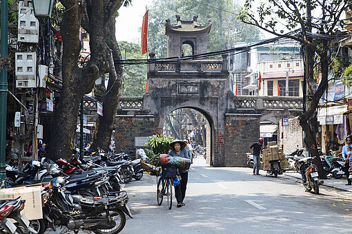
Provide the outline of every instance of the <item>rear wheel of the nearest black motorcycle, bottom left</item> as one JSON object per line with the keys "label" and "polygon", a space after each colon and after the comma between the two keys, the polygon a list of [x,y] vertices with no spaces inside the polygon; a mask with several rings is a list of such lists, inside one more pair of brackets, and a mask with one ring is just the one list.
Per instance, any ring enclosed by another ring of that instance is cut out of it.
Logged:
{"label": "rear wheel of the nearest black motorcycle, bottom left", "polygon": [[[103,229],[103,228],[97,228],[94,229],[93,232],[97,234],[115,234],[119,233],[124,229],[124,226],[126,224],[126,215],[124,212],[122,212],[119,209],[110,209],[109,210],[110,216],[112,219],[116,222],[115,226],[110,229]],[[97,217],[106,217],[106,211],[102,211],[97,215]]]}

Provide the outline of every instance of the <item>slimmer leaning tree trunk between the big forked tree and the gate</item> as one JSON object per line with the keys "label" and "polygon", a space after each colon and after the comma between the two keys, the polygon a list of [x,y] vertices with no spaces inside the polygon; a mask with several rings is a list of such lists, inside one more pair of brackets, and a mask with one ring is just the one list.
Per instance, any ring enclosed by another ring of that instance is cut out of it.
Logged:
{"label": "slimmer leaning tree trunk between the big forked tree and the gate", "polygon": [[106,89],[106,94],[103,102],[103,116],[97,118],[97,125],[95,126],[95,134],[93,136],[92,149],[101,147],[108,151],[110,146],[111,134],[114,129],[114,119],[116,115],[117,105],[119,104],[119,93],[122,84],[122,65],[115,64],[115,60],[121,60],[121,52],[115,36],[115,17],[108,23],[110,31],[109,47],[113,50],[113,57],[110,61],[111,70],[109,72],[109,83]]}

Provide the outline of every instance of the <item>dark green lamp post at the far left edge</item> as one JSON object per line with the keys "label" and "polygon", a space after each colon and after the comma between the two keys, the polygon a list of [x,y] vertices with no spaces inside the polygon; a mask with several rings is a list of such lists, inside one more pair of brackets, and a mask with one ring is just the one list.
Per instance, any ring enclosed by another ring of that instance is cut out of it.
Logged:
{"label": "dark green lamp post at the far left edge", "polygon": [[[1,1],[1,58],[8,58],[8,1]],[[6,106],[8,96],[8,65],[0,71],[0,189],[6,188]]]}

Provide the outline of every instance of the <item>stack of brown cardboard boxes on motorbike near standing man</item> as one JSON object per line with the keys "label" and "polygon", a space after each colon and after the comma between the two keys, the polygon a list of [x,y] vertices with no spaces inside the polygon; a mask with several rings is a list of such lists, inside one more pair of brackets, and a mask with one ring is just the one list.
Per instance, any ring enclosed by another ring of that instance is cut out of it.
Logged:
{"label": "stack of brown cardboard boxes on motorbike near standing man", "polygon": [[279,160],[281,169],[289,167],[289,162],[284,155],[284,151],[276,145],[276,142],[268,142],[266,149],[263,149],[263,170],[270,171],[271,163],[270,161]]}

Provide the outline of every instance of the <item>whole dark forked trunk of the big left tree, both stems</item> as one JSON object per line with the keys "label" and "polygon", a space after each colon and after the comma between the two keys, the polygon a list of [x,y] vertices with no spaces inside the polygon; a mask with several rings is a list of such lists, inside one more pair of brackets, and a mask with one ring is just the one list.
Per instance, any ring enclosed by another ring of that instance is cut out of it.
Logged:
{"label": "whole dark forked trunk of the big left tree, both stems", "polygon": [[[92,91],[95,80],[109,71],[111,58],[106,47],[106,25],[111,17],[115,17],[121,1],[124,0],[110,0],[108,3],[104,0],[60,0],[66,8],[60,25],[63,83],[51,129],[49,158],[72,157],[80,100]],[[81,26],[86,26],[90,34],[90,61],[84,68],[77,64],[81,50]]]}

